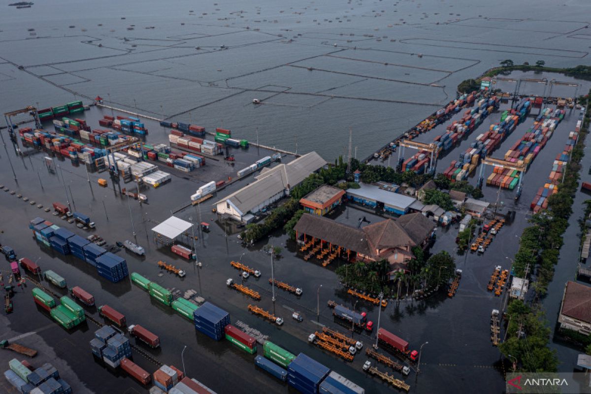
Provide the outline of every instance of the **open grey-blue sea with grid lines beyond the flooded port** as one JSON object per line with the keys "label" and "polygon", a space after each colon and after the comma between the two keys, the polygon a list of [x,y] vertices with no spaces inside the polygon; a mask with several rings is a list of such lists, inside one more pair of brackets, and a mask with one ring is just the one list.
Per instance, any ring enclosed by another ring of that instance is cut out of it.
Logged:
{"label": "open grey-blue sea with grid lines beyond the flooded port", "polygon": [[349,129],[366,157],[501,60],[589,64],[591,44],[584,1],[6,4],[4,110],[100,95],[329,161]]}

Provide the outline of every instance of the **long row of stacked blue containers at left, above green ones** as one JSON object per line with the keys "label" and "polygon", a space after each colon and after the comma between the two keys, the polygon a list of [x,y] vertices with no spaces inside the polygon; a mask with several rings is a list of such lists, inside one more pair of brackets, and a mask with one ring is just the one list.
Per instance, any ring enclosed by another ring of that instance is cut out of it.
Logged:
{"label": "long row of stacked blue containers at left, above green ones", "polygon": [[[31,220],[29,227],[33,228],[35,239],[63,255],[71,253],[89,263],[96,268],[100,276],[113,283],[122,281],[129,274],[125,259],[107,252],[95,243],[75,235],[70,230],[60,228],[41,217]],[[63,286],[60,287],[65,286],[64,281]]]}

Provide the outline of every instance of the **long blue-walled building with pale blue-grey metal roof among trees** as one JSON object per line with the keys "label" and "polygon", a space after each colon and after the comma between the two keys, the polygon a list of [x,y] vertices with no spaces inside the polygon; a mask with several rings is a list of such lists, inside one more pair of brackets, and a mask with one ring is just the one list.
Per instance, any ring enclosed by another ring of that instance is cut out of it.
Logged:
{"label": "long blue-walled building with pale blue-grey metal roof among trees", "polygon": [[347,189],[347,198],[371,208],[383,208],[388,213],[404,215],[416,198],[383,190],[374,185],[359,184],[358,189]]}

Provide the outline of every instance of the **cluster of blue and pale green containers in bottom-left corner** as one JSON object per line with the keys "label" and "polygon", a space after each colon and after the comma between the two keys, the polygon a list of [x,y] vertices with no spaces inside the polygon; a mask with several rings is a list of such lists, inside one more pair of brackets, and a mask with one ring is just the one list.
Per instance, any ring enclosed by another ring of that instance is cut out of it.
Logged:
{"label": "cluster of blue and pale green containers in bottom-left corner", "polygon": [[17,392],[23,394],[71,394],[72,388],[60,377],[56,367],[45,363],[34,369],[26,361],[12,359],[4,377]]}

